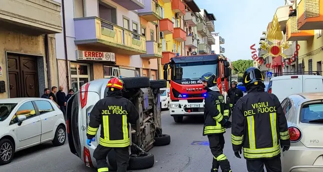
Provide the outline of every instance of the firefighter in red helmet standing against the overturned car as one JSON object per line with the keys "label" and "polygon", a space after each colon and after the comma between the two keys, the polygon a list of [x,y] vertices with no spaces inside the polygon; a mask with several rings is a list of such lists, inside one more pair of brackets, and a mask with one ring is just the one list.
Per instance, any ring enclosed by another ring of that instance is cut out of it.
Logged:
{"label": "firefighter in red helmet standing against the overturned car", "polygon": [[130,158],[128,122],[135,124],[139,113],[132,102],[122,96],[123,85],[123,81],[118,78],[109,80],[107,97],[99,100],[90,113],[86,134],[89,146],[101,125],[99,145],[93,154],[97,160],[99,172],[109,170],[106,157],[112,149],[116,152],[117,172],[127,170]]}

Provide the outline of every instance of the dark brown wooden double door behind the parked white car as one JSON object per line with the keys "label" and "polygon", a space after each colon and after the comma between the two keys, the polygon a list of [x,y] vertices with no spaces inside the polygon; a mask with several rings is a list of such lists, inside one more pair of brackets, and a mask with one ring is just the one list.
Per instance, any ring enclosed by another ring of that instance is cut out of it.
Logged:
{"label": "dark brown wooden double door behind the parked white car", "polygon": [[8,56],[10,97],[39,97],[37,57]]}

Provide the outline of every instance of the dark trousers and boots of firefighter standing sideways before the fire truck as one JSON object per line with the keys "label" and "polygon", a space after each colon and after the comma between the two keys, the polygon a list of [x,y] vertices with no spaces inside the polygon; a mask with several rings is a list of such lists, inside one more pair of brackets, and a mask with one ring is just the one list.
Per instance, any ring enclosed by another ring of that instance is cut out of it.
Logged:
{"label": "dark trousers and boots of firefighter standing sideways before the fire truck", "polygon": [[215,134],[215,135],[208,135],[210,142],[210,149],[213,154],[213,161],[212,161],[212,169],[214,171],[217,171],[215,169],[219,169],[219,166],[221,167],[221,170],[223,172],[229,172],[230,170],[230,163],[225,158],[222,158],[223,160],[218,161],[216,158],[224,156],[223,155],[223,148],[224,148],[224,137],[223,134]]}

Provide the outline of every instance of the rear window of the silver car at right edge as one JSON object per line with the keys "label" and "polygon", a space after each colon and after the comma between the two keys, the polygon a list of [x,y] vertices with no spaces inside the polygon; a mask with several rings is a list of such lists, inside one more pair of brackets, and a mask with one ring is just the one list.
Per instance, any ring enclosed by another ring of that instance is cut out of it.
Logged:
{"label": "rear window of the silver car at right edge", "polygon": [[301,122],[315,122],[323,118],[323,102],[306,104],[302,107]]}

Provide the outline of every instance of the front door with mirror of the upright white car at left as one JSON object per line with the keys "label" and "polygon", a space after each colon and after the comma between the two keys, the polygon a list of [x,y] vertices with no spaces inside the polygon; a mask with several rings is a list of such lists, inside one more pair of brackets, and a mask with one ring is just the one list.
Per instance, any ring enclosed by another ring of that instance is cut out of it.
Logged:
{"label": "front door with mirror of the upright white car at left", "polygon": [[[25,115],[26,120],[19,122],[19,115]],[[13,124],[16,125],[18,148],[40,143],[41,121],[32,101],[25,102],[18,108]]]}

